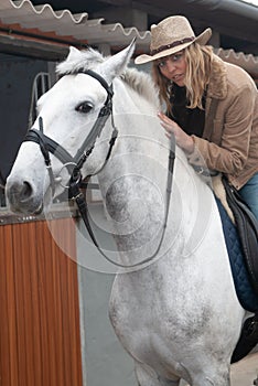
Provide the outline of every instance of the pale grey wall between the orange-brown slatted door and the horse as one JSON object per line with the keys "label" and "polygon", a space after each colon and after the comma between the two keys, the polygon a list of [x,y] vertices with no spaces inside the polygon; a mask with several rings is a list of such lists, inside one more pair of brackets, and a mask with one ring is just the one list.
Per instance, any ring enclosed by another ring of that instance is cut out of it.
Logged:
{"label": "pale grey wall between the orange-brown slatted door and the horse", "polygon": [[[98,226],[105,228],[101,204],[94,204],[90,212]],[[94,229],[99,244],[111,255],[115,248],[111,236],[96,229],[96,226]],[[107,274],[104,257],[82,234],[85,234],[85,227],[80,222],[77,254],[84,386],[136,386],[133,362],[115,335],[108,318],[108,300],[115,276]]]}

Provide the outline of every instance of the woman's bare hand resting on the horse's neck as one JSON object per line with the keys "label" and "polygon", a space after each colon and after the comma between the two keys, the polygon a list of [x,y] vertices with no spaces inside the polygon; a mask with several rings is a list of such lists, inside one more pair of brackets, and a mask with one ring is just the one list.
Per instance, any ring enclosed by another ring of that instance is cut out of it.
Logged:
{"label": "woman's bare hand resting on the horse's neck", "polygon": [[187,154],[191,154],[194,151],[193,138],[186,135],[175,121],[166,117],[163,112],[158,112],[158,117],[161,120],[161,126],[166,131],[165,135],[170,138],[171,132],[173,132],[176,144]]}

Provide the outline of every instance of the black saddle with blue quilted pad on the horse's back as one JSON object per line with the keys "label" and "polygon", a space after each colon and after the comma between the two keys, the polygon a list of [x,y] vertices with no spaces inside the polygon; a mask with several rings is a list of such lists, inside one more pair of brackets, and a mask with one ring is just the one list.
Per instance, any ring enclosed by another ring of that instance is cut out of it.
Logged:
{"label": "black saddle with blue quilted pad on the horse's back", "polygon": [[[223,200],[216,199],[216,201],[224,232],[226,228],[233,229],[234,248],[239,244],[236,248],[238,253],[229,251],[236,292],[241,305],[255,312],[255,315],[248,318],[243,325],[239,340],[232,355],[232,363],[235,363],[245,357],[258,344],[258,222],[236,189],[228,183],[224,175],[222,176],[222,183],[225,190],[226,204],[224,203],[223,207]],[[226,213],[225,206],[227,205]],[[226,223],[232,225],[228,227]],[[233,223],[235,226],[233,226]],[[236,240],[236,238],[238,239]],[[233,244],[229,245],[226,232],[225,239],[227,248],[230,249]],[[233,255],[235,255],[234,258]]]}

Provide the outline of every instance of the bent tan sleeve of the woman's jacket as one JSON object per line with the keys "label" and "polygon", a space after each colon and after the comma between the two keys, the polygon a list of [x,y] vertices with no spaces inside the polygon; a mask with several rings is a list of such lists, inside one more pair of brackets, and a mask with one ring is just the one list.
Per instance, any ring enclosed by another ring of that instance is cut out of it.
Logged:
{"label": "bent tan sleeve of the woman's jacket", "polygon": [[219,144],[192,136],[195,149],[189,156],[190,163],[237,175],[248,158],[254,108],[254,90],[247,85],[235,93],[224,117],[214,121],[213,130],[222,131]]}

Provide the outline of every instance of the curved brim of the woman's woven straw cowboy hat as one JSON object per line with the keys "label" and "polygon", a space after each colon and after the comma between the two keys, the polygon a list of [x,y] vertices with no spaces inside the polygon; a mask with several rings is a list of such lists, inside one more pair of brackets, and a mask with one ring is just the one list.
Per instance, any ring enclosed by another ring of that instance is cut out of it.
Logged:
{"label": "curved brim of the woman's woven straw cowboy hat", "polygon": [[159,52],[155,55],[148,55],[148,54],[142,54],[136,57],[135,63],[136,64],[143,64],[143,63],[148,63],[148,62],[152,62],[155,61],[160,57],[164,57],[168,55],[172,55],[175,54],[176,52],[186,49],[189,45],[193,44],[194,42],[197,42],[201,45],[205,45],[209,39],[212,36],[212,30],[211,29],[206,29],[203,33],[201,33],[198,36],[196,36],[194,40],[192,40],[191,42],[184,43],[184,44],[179,44],[174,47],[164,50]]}

